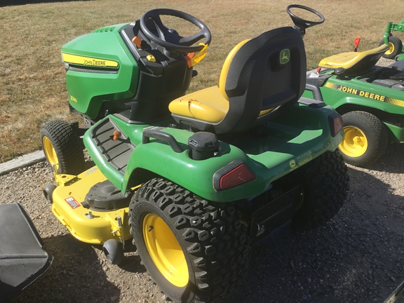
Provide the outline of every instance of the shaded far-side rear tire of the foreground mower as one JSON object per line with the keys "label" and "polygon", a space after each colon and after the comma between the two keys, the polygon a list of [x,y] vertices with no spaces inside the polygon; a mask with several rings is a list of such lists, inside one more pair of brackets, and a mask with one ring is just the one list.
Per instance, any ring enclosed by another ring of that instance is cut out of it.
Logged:
{"label": "shaded far-side rear tire of the foreground mower", "polygon": [[349,175],[339,151],[325,152],[299,170],[302,204],[292,227],[297,231],[320,227],[337,215],[349,189]]}

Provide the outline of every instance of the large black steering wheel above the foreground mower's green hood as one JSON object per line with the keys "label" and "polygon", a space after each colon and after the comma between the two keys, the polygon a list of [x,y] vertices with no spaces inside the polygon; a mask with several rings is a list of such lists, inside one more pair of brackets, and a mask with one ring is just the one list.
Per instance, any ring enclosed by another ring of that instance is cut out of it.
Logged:
{"label": "large black steering wheel above the foreground mower's green hood", "polygon": [[[161,22],[161,15],[170,15],[177,18],[182,18],[191,22],[201,29],[192,36],[183,37],[175,31],[175,29],[169,29],[163,22]],[[148,39],[154,43],[163,46],[167,50],[174,50],[180,53],[193,53],[202,50],[203,45],[191,46],[197,41],[205,38],[204,44],[209,44],[212,40],[212,34],[206,25],[201,20],[198,20],[192,15],[184,13],[182,11],[176,11],[170,8],[156,8],[151,11],[147,11],[140,18],[140,29]],[[159,36],[156,36],[155,32]]]}

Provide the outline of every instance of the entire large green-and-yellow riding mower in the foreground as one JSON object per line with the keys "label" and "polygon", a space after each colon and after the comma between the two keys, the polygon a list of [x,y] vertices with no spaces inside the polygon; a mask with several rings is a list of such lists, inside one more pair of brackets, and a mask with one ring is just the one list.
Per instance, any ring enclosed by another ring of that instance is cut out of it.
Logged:
{"label": "entire large green-and-yellow riding mower in the foreground", "polygon": [[[305,9],[318,20],[290,12],[296,27],[241,41],[219,85],[189,95],[211,34],[187,13],[154,9],[63,46],[69,107],[88,129],[41,128],[55,172],[44,194],[60,222],[102,244],[112,264],[133,239],[173,302],[218,302],[241,283],[254,243],[334,217],[349,182],[336,151],[342,118],[321,98],[301,97],[301,34],[324,20]],[[199,32],[181,36],[164,15]],[[81,137],[95,163],[88,170]]]}

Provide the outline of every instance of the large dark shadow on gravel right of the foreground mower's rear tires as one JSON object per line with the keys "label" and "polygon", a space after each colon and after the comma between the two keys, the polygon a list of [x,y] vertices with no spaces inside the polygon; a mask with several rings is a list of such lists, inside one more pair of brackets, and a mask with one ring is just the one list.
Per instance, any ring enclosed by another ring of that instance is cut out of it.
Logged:
{"label": "large dark shadow on gravel right of the foreground mower's rear tires", "polygon": [[[404,172],[399,150],[383,165]],[[404,279],[404,198],[363,170],[351,167],[349,175],[351,189],[337,216],[316,231],[255,246],[245,281],[226,303],[382,303],[389,297]]]}

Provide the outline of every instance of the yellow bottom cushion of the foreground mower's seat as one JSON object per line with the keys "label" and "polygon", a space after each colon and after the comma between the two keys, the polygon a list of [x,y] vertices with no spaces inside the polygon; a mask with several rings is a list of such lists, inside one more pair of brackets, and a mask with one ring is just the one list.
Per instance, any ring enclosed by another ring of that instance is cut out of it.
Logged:
{"label": "yellow bottom cushion of the foreground mower's seat", "polygon": [[178,116],[219,123],[229,111],[229,101],[220,93],[218,86],[213,86],[173,100],[168,109]]}

